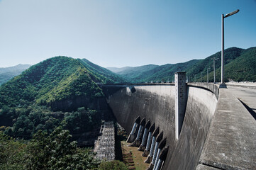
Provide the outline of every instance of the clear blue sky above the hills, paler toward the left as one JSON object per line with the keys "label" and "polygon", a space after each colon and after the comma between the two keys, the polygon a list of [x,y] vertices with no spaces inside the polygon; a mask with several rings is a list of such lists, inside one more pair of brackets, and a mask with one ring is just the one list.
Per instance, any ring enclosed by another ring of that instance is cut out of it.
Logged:
{"label": "clear blue sky above the hills, paler toward the left", "polygon": [[102,67],[203,59],[256,46],[255,0],[0,0],[0,67],[64,55]]}

